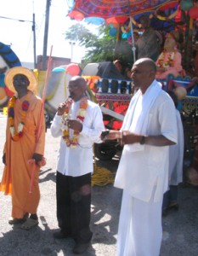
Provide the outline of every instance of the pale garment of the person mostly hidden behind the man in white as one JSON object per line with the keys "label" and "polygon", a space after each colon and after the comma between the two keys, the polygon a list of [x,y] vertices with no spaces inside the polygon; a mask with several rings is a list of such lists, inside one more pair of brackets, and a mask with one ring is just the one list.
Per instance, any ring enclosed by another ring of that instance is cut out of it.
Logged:
{"label": "pale garment of the person mostly hidden behind the man in white", "polygon": [[184,129],[181,115],[176,109],[178,143],[169,147],[169,184],[178,185],[183,180]]}

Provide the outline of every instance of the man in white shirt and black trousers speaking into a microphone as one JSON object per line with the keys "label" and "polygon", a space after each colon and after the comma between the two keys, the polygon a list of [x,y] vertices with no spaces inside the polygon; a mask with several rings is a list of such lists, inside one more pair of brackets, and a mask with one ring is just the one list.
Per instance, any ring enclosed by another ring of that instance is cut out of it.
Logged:
{"label": "man in white shirt and black trousers speaking into a microphone", "polygon": [[61,137],[56,175],[60,230],[54,238],[73,238],[73,253],[77,254],[87,250],[93,236],[89,228],[93,143],[105,130],[99,105],[88,100],[86,90],[85,79],[71,78],[71,97],[59,105],[50,128],[53,137]]}

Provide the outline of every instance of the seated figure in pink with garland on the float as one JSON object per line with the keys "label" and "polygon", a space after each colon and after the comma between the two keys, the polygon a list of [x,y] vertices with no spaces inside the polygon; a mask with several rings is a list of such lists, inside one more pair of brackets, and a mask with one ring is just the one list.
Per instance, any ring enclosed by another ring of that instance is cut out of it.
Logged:
{"label": "seated figure in pink with garland on the float", "polygon": [[169,74],[177,77],[182,73],[182,55],[178,52],[177,42],[173,38],[173,34],[167,35],[164,49],[156,61],[156,66],[156,79],[167,79]]}

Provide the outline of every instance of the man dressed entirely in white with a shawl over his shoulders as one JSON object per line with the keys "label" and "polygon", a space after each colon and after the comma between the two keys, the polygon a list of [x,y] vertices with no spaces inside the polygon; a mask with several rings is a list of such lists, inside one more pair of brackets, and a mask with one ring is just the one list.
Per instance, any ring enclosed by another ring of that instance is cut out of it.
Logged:
{"label": "man dressed entirely in white with a shawl over his shoulders", "polygon": [[121,131],[110,131],[124,145],[115,186],[123,189],[117,255],[159,256],[161,203],[167,190],[168,145],[177,143],[175,108],[155,80],[149,58],[133,64],[133,96]]}

